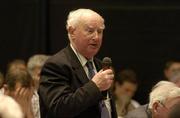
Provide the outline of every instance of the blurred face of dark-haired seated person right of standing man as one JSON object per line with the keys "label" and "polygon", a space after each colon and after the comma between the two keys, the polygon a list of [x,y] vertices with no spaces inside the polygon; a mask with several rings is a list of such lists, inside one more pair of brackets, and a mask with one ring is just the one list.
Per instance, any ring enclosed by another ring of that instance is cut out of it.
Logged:
{"label": "blurred face of dark-haired seated person right of standing man", "polygon": [[122,85],[116,83],[115,94],[118,97],[128,96],[132,98],[137,90],[137,85],[128,81],[123,82]]}

